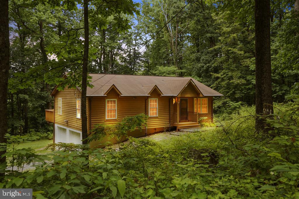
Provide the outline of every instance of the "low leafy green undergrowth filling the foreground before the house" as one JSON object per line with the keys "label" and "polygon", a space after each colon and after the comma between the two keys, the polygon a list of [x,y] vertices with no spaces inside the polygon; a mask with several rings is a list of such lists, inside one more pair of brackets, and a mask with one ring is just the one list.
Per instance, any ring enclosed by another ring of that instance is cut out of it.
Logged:
{"label": "low leafy green undergrowth filling the foreground before the house", "polygon": [[35,169],[7,169],[0,186],[33,188],[36,198],[298,198],[299,100],[274,107],[268,134],[254,131],[253,108],[202,132],[130,138],[120,151],[8,151]]}

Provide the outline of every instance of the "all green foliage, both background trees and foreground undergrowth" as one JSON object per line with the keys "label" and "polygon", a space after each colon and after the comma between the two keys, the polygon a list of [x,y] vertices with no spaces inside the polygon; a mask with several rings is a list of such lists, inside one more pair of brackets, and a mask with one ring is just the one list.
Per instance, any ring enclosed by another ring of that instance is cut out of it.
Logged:
{"label": "all green foliage, both background trees and foreground undergrowth", "polygon": [[[90,72],[193,76],[225,95],[214,100],[221,125],[159,142],[129,138],[121,151],[58,143],[40,155],[20,145],[51,138],[43,111],[50,87],[80,87],[82,1],[10,1],[13,135],[0,144],[7,149],[0,188],[33,188],[36,198],[298,198],[299,104],[286,97],[299,90],[298,15],[294,1],[271,1],[273,97],[288,103],[274,104],[269,134],[257,134],[253,2],[190,1],[158,33],[185,1],[143,1],[141,16],[133,1],[89,1]],[[108,135],[120,144],[146,121],[96,125],[89,139]]]}

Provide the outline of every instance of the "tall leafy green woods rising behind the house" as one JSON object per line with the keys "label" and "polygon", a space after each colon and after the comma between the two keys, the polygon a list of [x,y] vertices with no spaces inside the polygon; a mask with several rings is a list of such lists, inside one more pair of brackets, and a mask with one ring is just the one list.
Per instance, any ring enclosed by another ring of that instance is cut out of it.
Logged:
{"label": "tall leafy green woods rising behind the house", "polygon": [[[139,3],[140,14],[106,18],[89,7],[89,73],[191,76],[224,95],[214,101],[216,113],[255,104],[254,1]],[[9,1],[10,134],[52,131],[44,117],[53,104],[50,92],[65,71],[71,79],[64,85],[80,86],[83,9],[67,6]],[[271,0],[270,6],[273,101],[285,102],[299,93],[299,1]]]}

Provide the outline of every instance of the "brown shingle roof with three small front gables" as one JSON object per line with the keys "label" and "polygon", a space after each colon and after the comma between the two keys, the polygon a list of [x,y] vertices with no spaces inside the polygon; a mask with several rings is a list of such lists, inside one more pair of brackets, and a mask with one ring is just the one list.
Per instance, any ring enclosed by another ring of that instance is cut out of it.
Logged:
{"label": "brown shingle roof with three small front gables", "polygon": [[196,81],[191,77],[165,77],[143,75],[115,75],[89,74],[93,88],[87,88],[87,96],[105,96],[112,85],[119,90],[122,96],[147,96],[156,85],[163,95],[177,96],[187,85],[190,79],[204,96],[223,96],[212,88]]}

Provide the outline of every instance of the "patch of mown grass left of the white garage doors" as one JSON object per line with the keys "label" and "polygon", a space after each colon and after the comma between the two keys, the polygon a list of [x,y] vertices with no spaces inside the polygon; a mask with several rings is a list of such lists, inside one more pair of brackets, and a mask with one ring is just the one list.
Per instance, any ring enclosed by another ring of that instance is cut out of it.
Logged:
{"label": "patch of mown grass left of the white garage doors", "polygon": [[[15,144],[16,149],[23,149],[23,148],[32,148],[36,150],[37,153],[43,154],[50,152],[51,150],[46,150],[45,147],[48,146],[48,144],[53,143],[53,140],[36,140],[36,141],[30,141],[30,142],[24,142],[20,144]],[[8,147],[13,147],[13,144],[8,144]]]}

